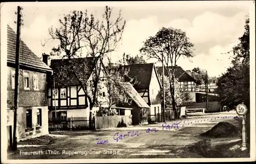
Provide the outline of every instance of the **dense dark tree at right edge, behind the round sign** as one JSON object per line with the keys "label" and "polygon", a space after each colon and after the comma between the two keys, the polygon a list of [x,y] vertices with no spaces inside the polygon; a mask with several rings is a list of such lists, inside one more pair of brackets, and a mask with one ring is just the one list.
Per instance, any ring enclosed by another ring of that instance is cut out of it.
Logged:
{"label": "dense dark tree at right edge, behind the round sign", "polygon": [[[244,102],[248,107],[246,114],[247,143],[250,142],[250,53],[249,18],[245,21],[245,31],[239,38],[240,43],[233,47],[232,66],[218,78],[217,93],[219,103],[234,108]],[[229,53],[229,52],[228,52]]]}

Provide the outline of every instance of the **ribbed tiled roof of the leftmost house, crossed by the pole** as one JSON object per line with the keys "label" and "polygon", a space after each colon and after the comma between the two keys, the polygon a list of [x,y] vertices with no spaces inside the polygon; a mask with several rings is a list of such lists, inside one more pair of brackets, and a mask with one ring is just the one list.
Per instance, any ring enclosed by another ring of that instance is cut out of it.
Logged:
{"label": "ribbed tiled roof of the leftmost house, crossed by the pole", "polygon": [[[32,34],[33,35],[33,34]],[[16,57],[16,33],[7,25],[7,62],[15,64]],[[52,71],[42,62],[31,49],[20,39],[19,64],[39,70]]]}

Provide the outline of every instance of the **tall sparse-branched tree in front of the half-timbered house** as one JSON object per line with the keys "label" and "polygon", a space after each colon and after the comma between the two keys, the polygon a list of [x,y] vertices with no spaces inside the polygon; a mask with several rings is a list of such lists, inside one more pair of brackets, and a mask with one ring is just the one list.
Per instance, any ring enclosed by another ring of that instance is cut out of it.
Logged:
{"label": "tall sparse-branched tree in front of the half-timbered house", "polygon": [[[51,55],[69,60],[65,68],[60,69],[74,75],[86,91],[90,103],[90,119],[92,108],[97,103],[101,72],[105,67],[103,59],[116,49],[125,26],[125,20],[122,20],[120,12],[116,19],[112,17],[112,8],[108,6],[105,7],[102,20],[95,19],[93,14],[88,15],[87,10],[85,12],[73,11],[65,15],[63,19],[59,19],[60,28],[49,29],[51,39],[59,41],[58,46],[52,48]],[[82,53],[87,53],[88,57],[93,58],[91,81],[87,81],[85,77],[89,70],[88,66],[79,60],[72,60],[81,57]],[[62,76],[61,74],[53,75]],[[66,80],[67,78],[69,77],[63,75],[59,79]]]}

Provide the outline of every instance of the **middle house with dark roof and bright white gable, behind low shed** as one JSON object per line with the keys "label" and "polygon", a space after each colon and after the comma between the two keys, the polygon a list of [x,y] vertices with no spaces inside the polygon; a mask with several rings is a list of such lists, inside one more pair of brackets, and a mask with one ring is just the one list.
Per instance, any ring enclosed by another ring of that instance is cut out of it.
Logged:
{"label": "middle house with dark roof and bright white gable, behind low shed", "polygon": [[135,79],[133,85],[144,101],[150,106],[148,111],[148,121],[151,117],[161,114],[161,83],[154,63],[135,64],[123,66],[127,70],[127,75]]}

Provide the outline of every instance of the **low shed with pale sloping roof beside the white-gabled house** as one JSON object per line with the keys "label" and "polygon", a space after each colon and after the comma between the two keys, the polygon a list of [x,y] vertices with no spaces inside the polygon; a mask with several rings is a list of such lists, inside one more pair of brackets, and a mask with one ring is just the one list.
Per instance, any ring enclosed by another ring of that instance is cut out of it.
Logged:
{"label": "low shed with pale sloping roof beside the white-gabled house", "polygon": [[[122,83],[124,88],[124,92],[127,97],[123,102],[127,102],[123,104],[123,107],[132,108],[131,114],[133,116],[133,124],[147,124],[148,123],[148,113],[150,112],[150,106],[145,102],[145,100],[140,96],[140,94],[135,90],[131,83]],[[129,102],[131,100],[131,102]],[[119,105],[120,106],[120,105]],[[118,107],[117,107],[118,108]],[[119,107],[121,110],[122,108]],[[123,110],[123,114],[125,115],[127,110]]]}

